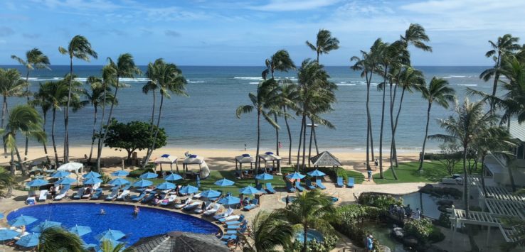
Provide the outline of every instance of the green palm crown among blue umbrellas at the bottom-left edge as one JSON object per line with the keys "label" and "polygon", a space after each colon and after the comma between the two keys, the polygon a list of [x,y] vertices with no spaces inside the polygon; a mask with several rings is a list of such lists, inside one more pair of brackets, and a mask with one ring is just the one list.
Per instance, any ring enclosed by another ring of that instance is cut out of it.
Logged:
{"label": "green palm crown among blue umbrellas at the bottom-left edge", "polygon": [[83,241],[76,234],[70,233],[61,227],[49,227],[44,229],[38,238],[38,252],[83,252]]}

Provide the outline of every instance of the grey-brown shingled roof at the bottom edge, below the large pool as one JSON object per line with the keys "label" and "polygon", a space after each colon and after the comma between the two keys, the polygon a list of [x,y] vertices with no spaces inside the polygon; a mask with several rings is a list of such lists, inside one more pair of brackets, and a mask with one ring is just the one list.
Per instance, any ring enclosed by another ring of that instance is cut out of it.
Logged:
{"label": "grey-brown shingled roof at the bottom edge, below the large pool", "polygon": [[196,234],[174,231],[157,236],[144,237],[133,244],[137,252],[227,252],[230,249],[213,234]]}

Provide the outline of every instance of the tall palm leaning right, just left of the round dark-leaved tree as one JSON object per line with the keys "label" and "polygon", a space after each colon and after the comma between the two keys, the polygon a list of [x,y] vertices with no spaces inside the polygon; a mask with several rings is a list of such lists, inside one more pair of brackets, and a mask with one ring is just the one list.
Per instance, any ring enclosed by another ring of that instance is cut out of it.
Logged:
{"label": "tall palm leaning right, just left of the round dark-leaved tree", "polygon": [[[102,78],[104,79],[104,82],[106,84],[113,84],[115,88],[115,92],[113,93],[113,99],[114,102],[111,103],[110,106],[110,113],[107,116],[107,124],[106,127],[109,128],[112,123],[112,114],[113,114],[113,108],[115,107],[115,102],[117,101],[117,93],[119,92],[120,87],[125,87],[125,84],[120,83],[120,78],[134,78],[135,75],[140,74],[139,67],[135,65],[135,62],[133,60],[133,56],[129,53],[124,53],[119,55],[117,62],[113,61],[110,57],[107,58],[109,61],[107,67],[105,67],[105,70],[102,72]],[[105,104],[104,102],[103,104]],[[103,109],[102,111],[105,111],[105,105],[102,105]],[[104,112],[102,112],[103,116]],[[101,120],[103,121],[103,119]],[[101,125],[100,132],[102,132],[102,128],[104,126]],[[102,135],[102,134],[100,134]],[[107,131],[104,131],[104,134],[102,135],[102,138],[98,139],[98,150],[97,150],[97,170],[100,170],[100,158],[102,158],[102,143],[104,143],[105,139],[107,137]]]}

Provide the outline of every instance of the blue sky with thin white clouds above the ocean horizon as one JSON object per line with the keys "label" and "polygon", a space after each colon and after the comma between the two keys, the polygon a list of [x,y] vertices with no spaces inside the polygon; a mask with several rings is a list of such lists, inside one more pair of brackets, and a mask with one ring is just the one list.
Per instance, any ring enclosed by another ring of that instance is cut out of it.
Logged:
{"label": "blue sky with thin white clouds above the ocean horizon", "polygon": [[434,52],[412,49],[413,65],[491,65],[488,40],[511,33],[525,43],[524,9],[522,0],[3,0],[0,64],[36,47],[53,65],[66,65],[58,46],[77,34],[100,55],[93,65],[120,53],[132,53],[139,65],[157,57],[178,65],[263,65],[280,49],[298,63],[314,57],[304,42],[325,28],[341,48],[321,62],[349,65],[376,38],[391,42],[420,23]]}

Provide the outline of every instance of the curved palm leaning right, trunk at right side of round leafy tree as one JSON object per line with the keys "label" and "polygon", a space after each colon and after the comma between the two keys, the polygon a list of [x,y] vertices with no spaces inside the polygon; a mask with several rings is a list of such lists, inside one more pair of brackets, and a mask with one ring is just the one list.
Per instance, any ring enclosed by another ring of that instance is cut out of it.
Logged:
{"label": "curved palm leaning right, trunk at right side of round leafy tree", "polygon": [[157,86],[157,89],[159,89],[161,100],[159,104],[159,116],[157,117],[157,130],[154,133],[153,143],[148,150],[146,160],[142,163],[142,168],[146,168],[147,162],[155,149],[164,97],[170,99],[170,94],[188,97],[188,93],[186,93],[186,78],[184,78],[182,71],[175,64],[166,63],[162,59],[157,59],[154,63],[148,64],[146,75],[149,80],[151,80],[152,84],[154,83]]}

